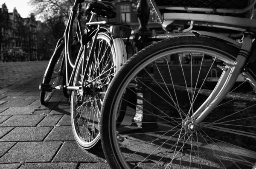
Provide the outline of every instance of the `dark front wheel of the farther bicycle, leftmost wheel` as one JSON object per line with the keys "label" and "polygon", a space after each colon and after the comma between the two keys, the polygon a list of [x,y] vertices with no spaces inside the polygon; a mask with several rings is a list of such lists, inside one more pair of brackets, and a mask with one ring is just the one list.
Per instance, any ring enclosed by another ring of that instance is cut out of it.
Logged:
{"label": "dark front wheel of the farther bicycle, leftmost wheel", "polygon": [[[61,43],[56,48],[52,58],[49,61],[46,72],[44,73],[44,84],[52,85],[52,87],[56,87],[60,85],[61,77],[63,76],[63,65],[64,65],[64,44]],[[41,90],[40,93],[40,103],[41,105],[47,105],[49,100],[52,98],[55,90],[51,92]]]}

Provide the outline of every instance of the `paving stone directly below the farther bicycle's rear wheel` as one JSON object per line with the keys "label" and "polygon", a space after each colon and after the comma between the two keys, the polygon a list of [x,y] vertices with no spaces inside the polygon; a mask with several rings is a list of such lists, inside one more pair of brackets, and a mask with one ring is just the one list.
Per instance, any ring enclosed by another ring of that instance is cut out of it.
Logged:
{"label": "paving stone directly below the farther bicycle's rear wheel", "polygon": [[[102,162],[103,159],[82,149],[76,141],[67,141],[61,146],[53,162]],[[95,168],[96,169],[96,168]]]}

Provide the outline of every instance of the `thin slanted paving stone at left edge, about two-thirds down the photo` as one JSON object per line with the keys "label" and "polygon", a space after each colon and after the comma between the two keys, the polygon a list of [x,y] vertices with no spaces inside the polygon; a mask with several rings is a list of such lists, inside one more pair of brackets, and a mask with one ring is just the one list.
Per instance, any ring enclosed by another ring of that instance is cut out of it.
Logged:
{"label": "thin slanted paving stone at left edge, about two-thirds down the photo", "polygon": [[10,107],[8,110],[5,110],[0,115],[30,115],[38,107]]}

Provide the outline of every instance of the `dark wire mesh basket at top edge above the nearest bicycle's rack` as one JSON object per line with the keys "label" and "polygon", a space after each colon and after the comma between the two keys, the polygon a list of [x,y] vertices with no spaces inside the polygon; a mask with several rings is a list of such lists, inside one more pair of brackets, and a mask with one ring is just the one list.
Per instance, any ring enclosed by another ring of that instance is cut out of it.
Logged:
{"label": "dark wire mesh basket at top edge above the nearest bicycle's rack", "polygon": [[158,6],[187,6],[197,8],[237,8],[249,4],[249,0],[159,0]]}

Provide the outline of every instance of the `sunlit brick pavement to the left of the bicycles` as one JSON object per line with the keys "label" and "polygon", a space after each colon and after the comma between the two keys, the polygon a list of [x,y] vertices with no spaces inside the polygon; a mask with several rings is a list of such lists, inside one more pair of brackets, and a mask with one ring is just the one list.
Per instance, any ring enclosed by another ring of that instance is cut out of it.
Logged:
{"label": "sunlit brick pavement to the left of the bicycles", "polygon": [[107,169],[99,147],[73,138],[70,105],[60,91],[49,106],[38,85],[47,61],[0,63],[0,169]]}

